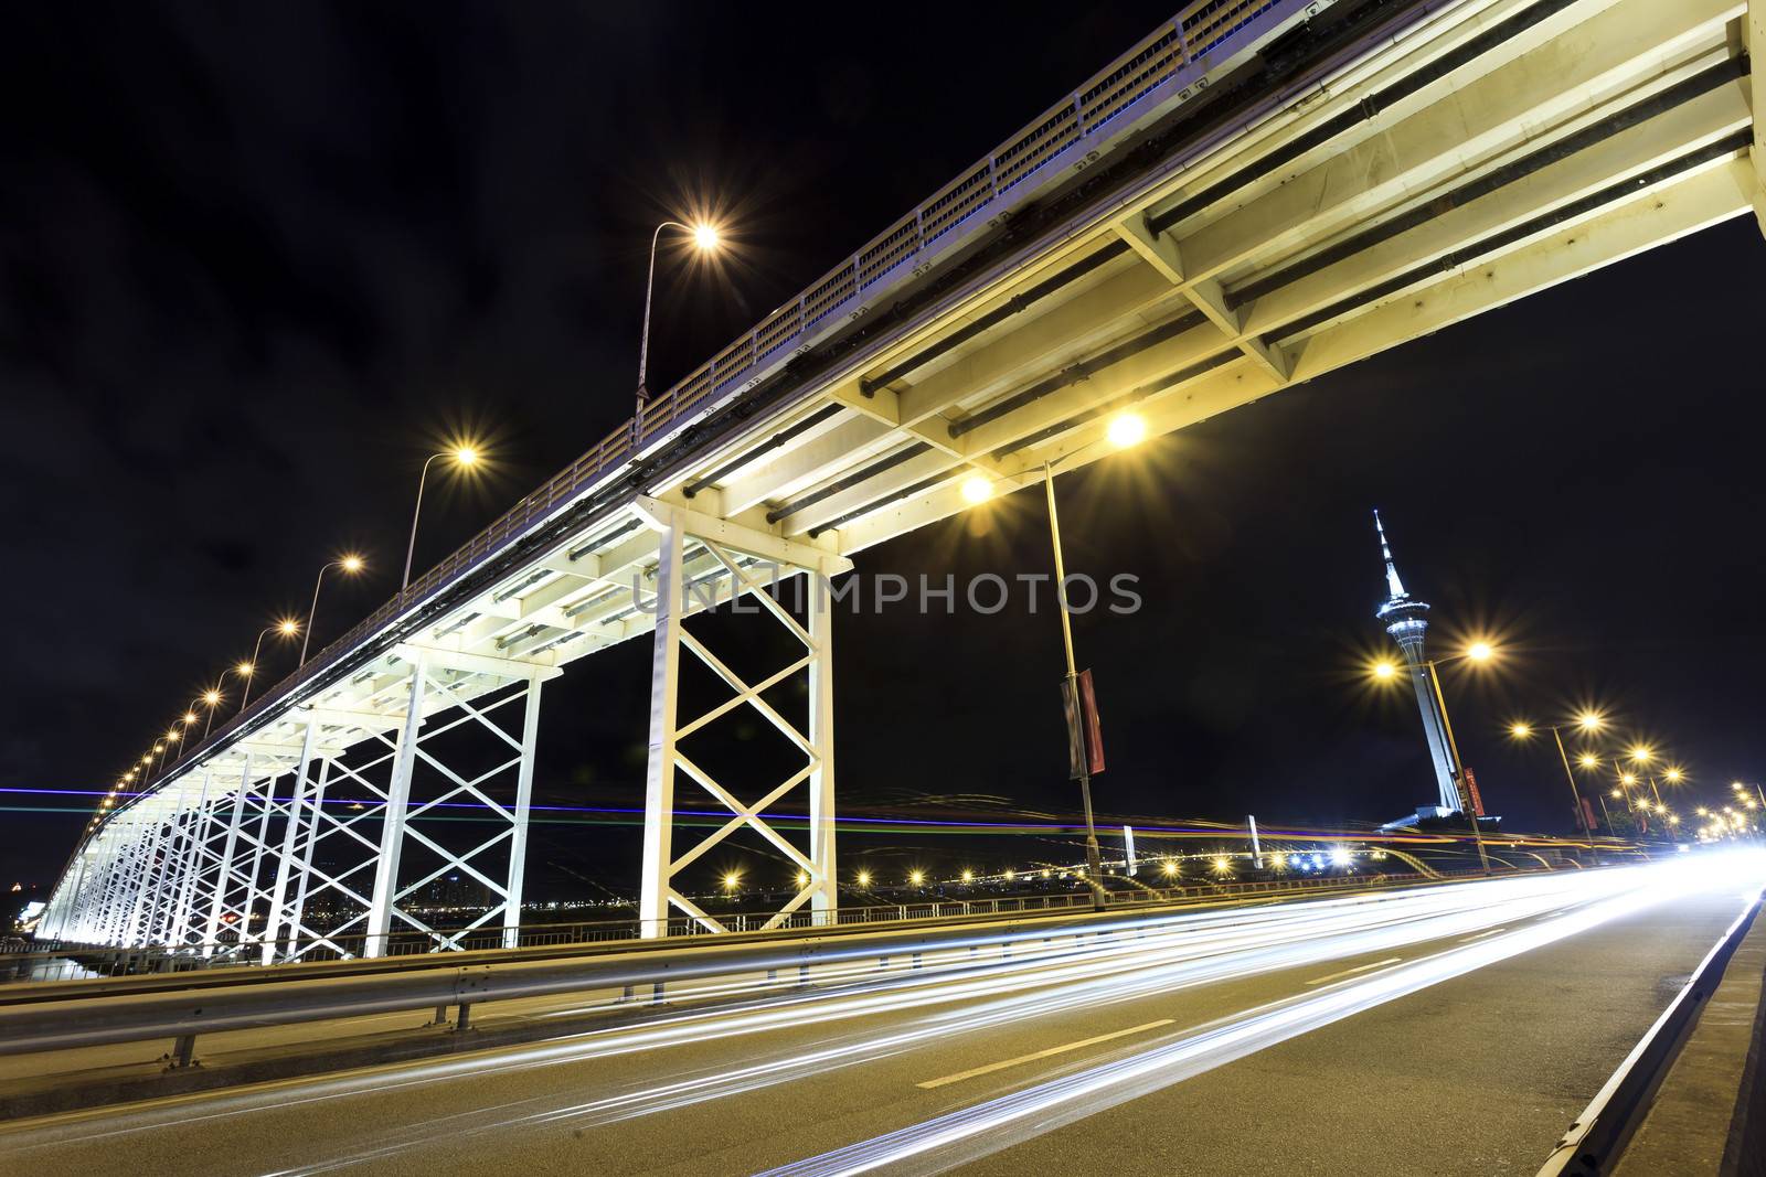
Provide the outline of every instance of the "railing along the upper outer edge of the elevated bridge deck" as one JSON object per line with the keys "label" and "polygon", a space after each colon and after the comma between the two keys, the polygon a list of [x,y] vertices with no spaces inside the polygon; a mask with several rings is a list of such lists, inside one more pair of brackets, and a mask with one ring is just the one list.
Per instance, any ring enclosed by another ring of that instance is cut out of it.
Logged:
{"label": "railing along the upper outer edge of the elevated bridge deck", "polygon": [[[1190,0],[1174,18],[1160,23],[1132,49],[1093,74],[1031,120],[1015,136],[966,168],[955,180],[934,192],[911,214],[897,221],[864,249],[812,282],[796,298],[779,307],[728,348],[701,364],[668,392],[643,404],[638,416],[602,438],[595,448],[555,475],[533,494],[516,503],[502,519],[473,536],[466,545],[429,568],[399,596],[389,600],[357,623],[343,637],[328,642],[304,667],[277,683],[245,711],[223,723],[210,738],[184,757],[189,762],[208,748],[224,746],[235,731],[253,716],[270,713],[298,686],[321,676],[337,660],[389,626],[410,603],[426,600],[454,584],[525,535],[535,522],[577,499],[611,471],[618,469],[645,441],[662,436],[701,415],[735,385],[758,378],[770,365],[804,349],[814,337],[864,314],[864,300],[878,296],[879,286],[918,277],[932,256],[961,236],[959,229],[975,217],[998,217],[1021,203],[1040,176],[1067,148],[1081,143],[1125,115],[1136,113],[1150,95],[1162,92],[1183,71],[1206,78],[1208,58],[1233,42],[1264,14],[1284,9],[1305,12],[1332,0]],[[1197,67],[1197,69],[1192,69]],[[1187,95],[1187,92],[1185,92]],[[177,764],[161,773],[166,780]],[[159,780],[154,783],[157,785]],[[143,785],[143,791],[147,785]]]}

